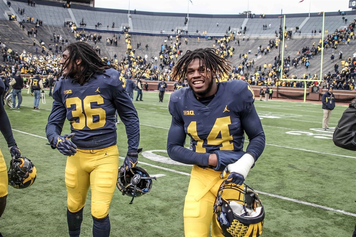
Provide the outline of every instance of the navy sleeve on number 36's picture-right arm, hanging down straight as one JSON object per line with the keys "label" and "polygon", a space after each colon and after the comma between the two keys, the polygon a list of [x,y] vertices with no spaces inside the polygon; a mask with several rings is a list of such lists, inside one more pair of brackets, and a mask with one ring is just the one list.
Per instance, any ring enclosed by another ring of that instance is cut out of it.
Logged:
{"label": "navy sleeve on number 36's picture-right arm, hanging down straight", "polygon": [[114,103],[122,123],[125,124],[127,144],[129,145],[127,152],[137,152],[140,142],[140,122],[135,106],[125,90],[119,90],[116,93]]}

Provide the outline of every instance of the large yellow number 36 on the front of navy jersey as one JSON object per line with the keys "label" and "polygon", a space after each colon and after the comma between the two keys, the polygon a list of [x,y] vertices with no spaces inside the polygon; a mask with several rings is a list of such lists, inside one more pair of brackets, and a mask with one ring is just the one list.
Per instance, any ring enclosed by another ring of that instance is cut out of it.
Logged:
{"label": "large yellow number 36 on the front of navy jersey", "polygon": [[[70,121],[74,129],[83,129],[85,125],[87,125],[90,129],[101,128],[106,123],[106,113],[102,108],[93,109],[90,106],[90,103],[98,103],[103,104],[104,98],[100,95],[87,96],[83,99],[79,99],[79,97],[68,98],[66,100],[66,107],[70,108],[73,104],[75,104],[75,110],[72,111],[73,117],[78,117],[79,121],[75,122]],[[84,107],[84,112],[83,112]],[[93,116],[99,115],[99,121],[93,122]]]}

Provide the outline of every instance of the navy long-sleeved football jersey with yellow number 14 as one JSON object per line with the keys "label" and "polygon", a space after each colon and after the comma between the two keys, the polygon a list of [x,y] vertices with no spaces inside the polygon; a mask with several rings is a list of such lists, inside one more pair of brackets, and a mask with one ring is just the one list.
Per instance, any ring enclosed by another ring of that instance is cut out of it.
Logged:
{"label": "navy long-sleeved football jersey with yellow number 14", "polygon": [[[219,83],[215,97],[207,106],[195,98],[191,88],[174,91],[168,104],[172,115],[172,133],[168,133],[167,148],[183,146],[185,134],[188,134],[195,152],[188,152],[188,155],[187,149],[176,147],[177,150],[171,153],[183,163],[206,166],[209,154],[214,151],[243,151],[246,132],[250,139],[246,152],[252,153],[257,160],[265,146],[265,135],[254,101],[255,95],[250,85],[242,80]],[[180,134],[183,129],[185,134],[182,139]],[[197,155],[196,152],[205,155]],[[195,161],[189,162],[190,158]]]}

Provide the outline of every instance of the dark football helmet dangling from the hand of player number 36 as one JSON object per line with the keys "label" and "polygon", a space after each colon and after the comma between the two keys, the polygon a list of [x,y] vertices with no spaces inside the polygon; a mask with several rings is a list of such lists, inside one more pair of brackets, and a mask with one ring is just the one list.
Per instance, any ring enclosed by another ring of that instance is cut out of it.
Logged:
{"label": "dark football helmet dangling from the hand of player number 36", "polygon": [[116,187],[120,190],[122,195],[132,197],[130,202],[130,204],[132,204],[134,198],[138,198],[150,192],[152,188],[151,179],[156,179],[156,177],[150,177],[147,171],[141,167],[135,166],[129,170],[125,170],[121,166],[117,176]]}

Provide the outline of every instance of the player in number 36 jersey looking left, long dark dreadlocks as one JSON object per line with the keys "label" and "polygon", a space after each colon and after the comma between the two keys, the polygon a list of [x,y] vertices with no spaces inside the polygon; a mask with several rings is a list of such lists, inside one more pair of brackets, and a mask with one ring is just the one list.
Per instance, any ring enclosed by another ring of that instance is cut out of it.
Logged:
{"label": "player in number 36 jersey looking left, long dark dreadlocks", "polygon": [[[115,113],[125,125],[128,152],[123,169],[137,164],[140,127],[137,111],[125,92],[126,81],[85,42],[69,44],[54,85],[46,134],[53,149],[67,156],[69,236],[80,235],[89,186],[93,236],[110,235],[109,205],[119,169]],[[70,134],[61,135],[64,120]],[[71,139],[71,140],[69,140]]]}

